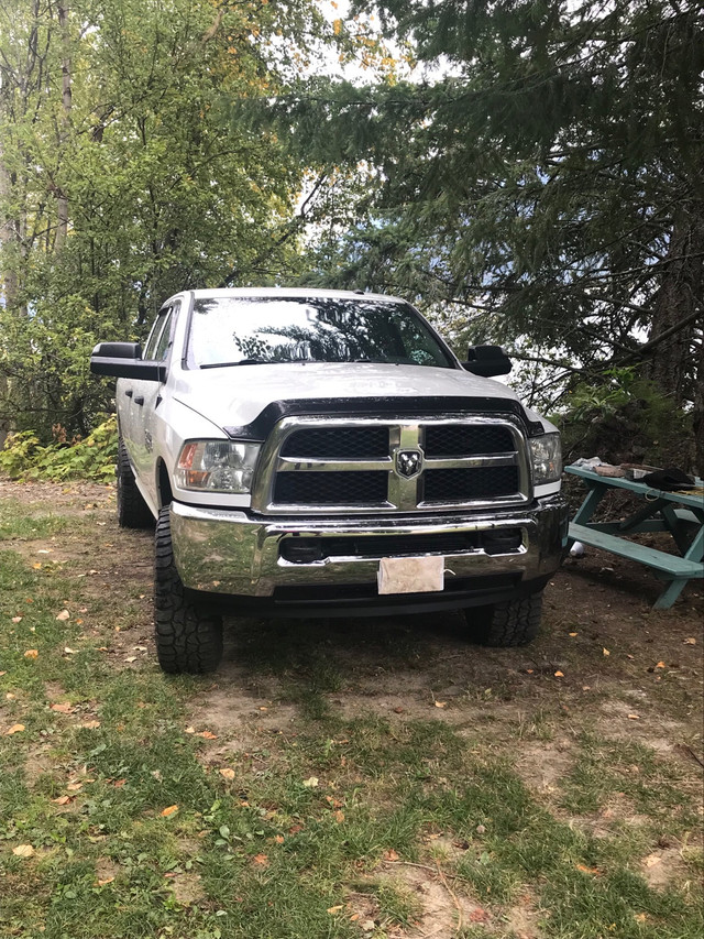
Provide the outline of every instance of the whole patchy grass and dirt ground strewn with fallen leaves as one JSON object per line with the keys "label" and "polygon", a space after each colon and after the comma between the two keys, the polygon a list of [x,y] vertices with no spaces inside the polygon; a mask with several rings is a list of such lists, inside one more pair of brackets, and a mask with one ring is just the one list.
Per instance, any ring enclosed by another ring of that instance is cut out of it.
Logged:
{"label": "whole patchy grass and dirt ground strewn with fallen leaves", "polygon": [[0,493],[3,937],[702,935],[691,622],[686,680],[574,594],[530,649],[250,622],[169,679],[148,533],[105,489],[32,494]]}

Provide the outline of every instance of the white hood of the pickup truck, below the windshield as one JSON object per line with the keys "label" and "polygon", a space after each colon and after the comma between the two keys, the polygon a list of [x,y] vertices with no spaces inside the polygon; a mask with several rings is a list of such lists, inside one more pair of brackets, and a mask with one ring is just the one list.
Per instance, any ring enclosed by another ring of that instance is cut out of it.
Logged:
{"label": "white hood of the pickup truck, below the windshield", "polygon": [[512,389],[459,369],[346,362],[179,371],[174,397],[219,427],[250,424],[275,401],[419,396],[517,401]]}

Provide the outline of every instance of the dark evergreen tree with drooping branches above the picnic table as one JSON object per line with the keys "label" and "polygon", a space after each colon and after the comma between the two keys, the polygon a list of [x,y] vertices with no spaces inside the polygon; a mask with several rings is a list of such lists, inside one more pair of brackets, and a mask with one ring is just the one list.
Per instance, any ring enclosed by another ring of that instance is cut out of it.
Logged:
{"label": "dark evergreen tree with drooping branches above the picnic table", "polygon": [[704,436],[702,6],[355,9],[433,70],[279,99],[278,127],[338,192],[315,275],[507,342],[550,365],[546,389],[556,368],[564,392],[578,371],[635,367],[694,407]]}

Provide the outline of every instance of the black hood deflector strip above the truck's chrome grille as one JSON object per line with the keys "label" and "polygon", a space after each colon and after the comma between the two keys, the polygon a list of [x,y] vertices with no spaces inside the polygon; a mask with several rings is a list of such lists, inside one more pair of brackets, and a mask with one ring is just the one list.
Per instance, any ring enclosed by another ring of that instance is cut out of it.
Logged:
{"label": "black hood deflector strip above the truck's chrome grille", "polygon": [[517,417],[528,437],[541,437],[539,421],[529,421],[518,401],[509,397],[309,397],[273,401],[250,424],[223,427],[233,440],[263,443],[283,417],[463,417],[469,414],[509,414]]}

